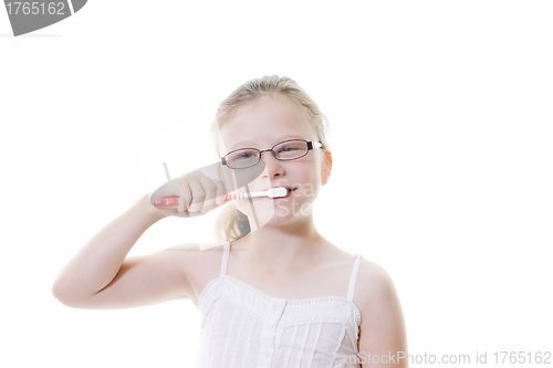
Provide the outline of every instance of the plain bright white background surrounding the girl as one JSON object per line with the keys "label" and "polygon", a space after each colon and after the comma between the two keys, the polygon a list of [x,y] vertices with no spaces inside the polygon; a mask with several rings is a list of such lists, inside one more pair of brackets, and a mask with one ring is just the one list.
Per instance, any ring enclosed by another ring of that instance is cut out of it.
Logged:
{"label": "plain bright white background surrounding the girl", "polygon": [[[74,309],[51,286],[165,182],[156,139],[173,176],[215,162],[217,105],[270,74],[330,118],[317,229],[389,272],[409,354],[552,351],[552,17],[550,1],[90,1],[13,38],[0,10],[0,365],[191,365],[190,301]],[[209,242],[215,217],[165,219],[129,255]]]}

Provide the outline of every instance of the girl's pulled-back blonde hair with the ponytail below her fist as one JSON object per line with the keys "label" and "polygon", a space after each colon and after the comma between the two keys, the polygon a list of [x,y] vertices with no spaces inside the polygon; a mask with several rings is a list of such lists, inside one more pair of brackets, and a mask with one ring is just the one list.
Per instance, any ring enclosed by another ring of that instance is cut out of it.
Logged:
{"label": "girl's pulled-back blonde hair with the ponytail below her fist", "polygon": [[[288,96],[300,107],[300,111],[302,111],[306,117],[306,122],[315,130],[319,141],[323,145],[322,149],[325,151],[325,156],[327,151],[330,153],[330,145],[327,141],[327,134],[330,133],[328,119],[319,109],[319,106],[311,96],[303,91],[295,81],[288,76],[264,75],[260,78],[247,81],[219,104],[216,118],[210,128],[215,150],[218,155],[219,132],[227,122],[229,115],[237,107],[248,102],[273,94]],[[324,160],[324,172],[330,174],[331,165],[328,165],[326,159]],[[238,210],[233,203],[229,203],[223,206],[219,211],[215,223],[215,232],[219,242],[233,242],[249,234],[251,228],[248,217]]]}

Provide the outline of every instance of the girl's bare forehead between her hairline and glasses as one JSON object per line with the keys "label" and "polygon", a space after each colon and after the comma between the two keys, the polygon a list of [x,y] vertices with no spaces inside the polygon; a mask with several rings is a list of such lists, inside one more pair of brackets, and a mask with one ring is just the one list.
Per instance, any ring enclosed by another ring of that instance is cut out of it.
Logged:
{"label": "girl's bare forehead between her hairline and glasses", "polygon": [[302,107],[289,97],[263,96],[237,107],[221,128],[222,150],[272,147],[292,138],[312,140],[314,130]]}

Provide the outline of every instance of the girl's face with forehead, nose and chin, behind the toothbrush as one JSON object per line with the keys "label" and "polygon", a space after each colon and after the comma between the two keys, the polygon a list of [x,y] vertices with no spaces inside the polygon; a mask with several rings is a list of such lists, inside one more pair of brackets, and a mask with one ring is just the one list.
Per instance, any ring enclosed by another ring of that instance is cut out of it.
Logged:
{"label": "girl's face with forehead, nose and chin, behind the toothbrush", "polygon": [[[319,140],[300,107],[286,96],[276,94],[234,109],[221,128],[219,151],[225,155],[234,149],[252,147],[264,150],[294,138]],[[248,215],[252,231],[257,225],[284,224],[312,215],[312,204],[322,186],[323,158],[321,148],[312,149],[306,156],[291,161],[279,161],[270,151],[262,154],[265,169],[249,183],[249,190],[265,191],[271,187],[295,189],[283,198],[252,198],[253,209],[250,199],[234,200],[234,206]],[[246,192],[246,189],[234,192]]]}

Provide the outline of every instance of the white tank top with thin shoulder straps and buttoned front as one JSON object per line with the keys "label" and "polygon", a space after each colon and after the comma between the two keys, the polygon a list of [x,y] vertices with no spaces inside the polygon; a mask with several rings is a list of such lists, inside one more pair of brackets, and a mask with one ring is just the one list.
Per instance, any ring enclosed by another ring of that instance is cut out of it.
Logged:
{"label": "white tank top with thin shoulder straps and buttoned front", "polygon": [[227,275],[230,242],[223,246],[221,274],[198,298],[197,368],[361,368],[361,312],[353,303],[361,254],[347,298],[285,299]]}

